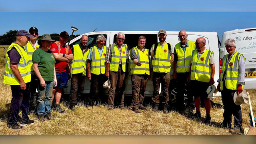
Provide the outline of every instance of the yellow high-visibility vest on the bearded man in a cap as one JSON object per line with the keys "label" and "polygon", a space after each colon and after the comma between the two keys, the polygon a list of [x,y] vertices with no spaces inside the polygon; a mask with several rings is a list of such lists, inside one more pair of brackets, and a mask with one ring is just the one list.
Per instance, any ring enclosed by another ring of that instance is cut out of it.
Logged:
{"label": "yellow high-visibility vest on the bearded man in a cap", "polygon": [[[155,44],[152,46],[154,48]],[[172,46],[172,44],[171,44]],[[156,54],[152,59],[153,72],[170,72],[171,70],[171,56],[168,49],[168,44],[165,43],[163,48],[160,43],[156,48]]]}

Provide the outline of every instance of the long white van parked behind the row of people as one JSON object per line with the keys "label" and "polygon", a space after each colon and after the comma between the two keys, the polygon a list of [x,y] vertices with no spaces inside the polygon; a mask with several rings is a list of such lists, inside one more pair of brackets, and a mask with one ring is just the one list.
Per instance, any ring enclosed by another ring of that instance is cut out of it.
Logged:
{"label": "long white van parked behind the row of people", "polygon": [[[109,44],[112,44],[116,42],[116,35],[120,31],[106,31],[106,32],[88,32],[86,35],[89,37],[89,42],[87,46],[90,48],[92,46],[95,46],[97,44],[96,42],[96,37],[99,34],[103,34],[106,37],[106,46],[109,46]],[[125,34],[125,40],[124,44],[127,44],[129,47],[129,50],[138,44],[138,38],[140,36],[145,36],[146,37],[146,44],[145,47],[150,50],[151,46],[157,42],[158,40],[158,31],[121,31]],[[215,84],[218,85],[217,80],[219,78],[219,73],[220,71],[220,66],[219,66],[219,48],[218,48],[218,36],[216,32],[187,32],[188,34],[188,40],[193,40],[196,41],[197,38],[199,37],[204,37],[206,39],[206,49],[212,50],[214,52],[214,58],[215,58]],[[83,35],[83,34],[82,34]],[[70,48],[74,44],[79,44],[80,43],[80,38],[82,35],[74,38],[73,40],[70,41]],[[167,31],[167,37],[166,37],[166,42],[172,44],[175,46],[179,42],[178,40],[178,31]],[[173,64],[172,64],[173,65]],[[152,68],[152,64],[151,64]],[[129,65],[129,70],[130,70],[130,65]],[[173,68],[172,68],[173,70]],[[152,69],[151,69],[152,72]],[[152,73],[151,73],[152,74]],[[171,78],[173,71],[170,72]],[[131,76],[126,76],[126,89],[125,89],[125,95],[126,96],[131,96],[132,95],[132,86],[131,86]],[[70,84],[69,84],[70,85]],[[175,96],[176,96],[176,82],[175,80],[171,80],[170,82],[170,100],[175,101]],[[160,88],[161,89],[161,88]],[[68,94],[70,92],[70,86],[68,88],[64,89],[64,93]],[[84,86],[84,94],[89,94],[90,92],[90,82],[88,78],[86,78],[85,86]],[[97,92],[96,92],[97,93]],[[108,92],[106,91],[106,94]],[[146,96],[152,96],[153,95],[153,84],[152,84],[152,76],[151,79],[148,81],[148,84],[146,86]],[[216,96],[220,96],[220,93],[218,92]]]}

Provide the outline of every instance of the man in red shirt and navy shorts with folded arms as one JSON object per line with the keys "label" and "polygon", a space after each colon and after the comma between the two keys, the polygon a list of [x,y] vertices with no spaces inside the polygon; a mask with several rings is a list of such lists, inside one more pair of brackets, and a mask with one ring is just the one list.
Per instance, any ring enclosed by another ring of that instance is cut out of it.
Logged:
{"label": "man in red shirt and navy shorts with folded arms", "polygon": [[70,60],[73,60],[74,58],[70,47],[66,45],[68,38],[69,38],[68,32],[66,31],[61,32],[60,41],[56,41],[52,43],[52,46],[50,48],[56,60],[55,70],[56,70],[56,77],[58,81],[58,85],[56,87],[54,86],[52,91],[52,102],[55,98],[55,104],[52,104],[52,108],[60,113],[66,113],[66,110],[62,110],[60,108],[60,98],[62,95],[62,89],[68,87],[67,86],[68,84],[67,64]]}

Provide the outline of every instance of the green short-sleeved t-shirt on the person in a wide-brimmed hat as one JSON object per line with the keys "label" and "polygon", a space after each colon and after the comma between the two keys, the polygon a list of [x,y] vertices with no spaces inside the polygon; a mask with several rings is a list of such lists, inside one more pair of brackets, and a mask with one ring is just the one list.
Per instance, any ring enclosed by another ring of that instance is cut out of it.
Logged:
{"label": "green short-sleeved t-shirt on the person in a wide-brimmed hat", "polygon": [[[46,82],[54,80],[54,64],[56,63],[52,51],[47,52],[38,48],[32,55],[32,62],[38,62],[38,70]],[[36,80],[39,80],[36,78]]]}

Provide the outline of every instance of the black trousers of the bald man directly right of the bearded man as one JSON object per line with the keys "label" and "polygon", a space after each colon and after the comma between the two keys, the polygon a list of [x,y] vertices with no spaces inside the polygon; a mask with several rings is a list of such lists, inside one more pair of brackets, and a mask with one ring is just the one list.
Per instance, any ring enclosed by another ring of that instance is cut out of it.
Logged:
{"label": "black trousers of the bald man directly right of the bearded man", "polygon": [[[177,107],[178,109],[182,110],[185,108],[185,104],[184,104],[184,94],[185,94],[185,88],[186,88],[186,84],[188,84],[187,78],[188,78],[189,72],[178,72],[177,73]],[[188,88],[187,88],[188,90]],[[193,100],[193,97],[192,97]],[[190,99],[190,101],[192,102],[192,100]],[[188,102],[191,103],[191,102]]]}

